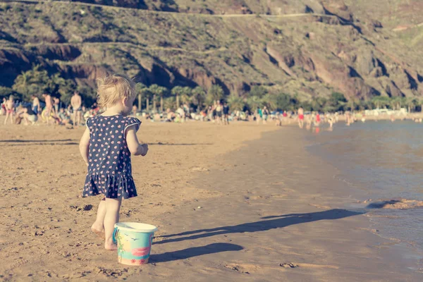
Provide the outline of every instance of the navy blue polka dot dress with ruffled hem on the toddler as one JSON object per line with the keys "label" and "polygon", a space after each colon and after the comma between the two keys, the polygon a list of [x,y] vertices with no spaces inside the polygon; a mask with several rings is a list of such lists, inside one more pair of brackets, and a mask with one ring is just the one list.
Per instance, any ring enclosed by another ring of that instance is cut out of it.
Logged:
{"label": "navy blue polka dot dress with ruffled hem on the toddler", "polygon": [[87,120],[90,130],[88,173],[82,197],[103,194],[106,198],[128,199],[137,196],[125,130],[140,128],[138,118],[94,116]]}

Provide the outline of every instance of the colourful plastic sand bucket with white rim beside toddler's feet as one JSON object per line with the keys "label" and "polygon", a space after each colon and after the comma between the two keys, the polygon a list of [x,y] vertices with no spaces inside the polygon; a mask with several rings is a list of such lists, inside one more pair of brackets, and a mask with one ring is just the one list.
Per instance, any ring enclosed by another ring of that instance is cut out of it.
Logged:
{"label": "colourful plastic sand bucket with white rim beside toddler's feet", "polygon": [[147,264],[156,226],[136,222],[115,224],[114,243],[118,245],[118,262],[127,265]]}

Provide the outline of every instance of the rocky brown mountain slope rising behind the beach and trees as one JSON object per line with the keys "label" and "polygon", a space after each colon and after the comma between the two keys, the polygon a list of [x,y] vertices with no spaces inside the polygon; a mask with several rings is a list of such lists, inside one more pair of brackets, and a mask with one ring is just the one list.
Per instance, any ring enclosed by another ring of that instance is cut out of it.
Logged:
{"label": "rocky brown mountain slope rising behind the beach and trees", "polygon": [[219,84],[227,94],[252,85],[302,99],[334,91],[352,99],[423,94],[422,51],[360,12],[360,4],[95,2],[134,9],[74,2],[0,6],[1,85],[11,87],[18,74],[41,63],[91,86],[99,75],[123,72],[147,85]]}

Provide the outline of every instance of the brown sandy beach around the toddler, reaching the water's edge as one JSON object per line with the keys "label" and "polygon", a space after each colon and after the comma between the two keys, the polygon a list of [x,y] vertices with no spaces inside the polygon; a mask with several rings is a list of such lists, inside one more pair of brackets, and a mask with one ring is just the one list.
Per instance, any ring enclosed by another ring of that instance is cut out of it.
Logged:
{"label": "brown sandy beach around the toddler, reaching the water's edge", "polygon": [[[1,120],[0,120],[1,122]],[[294,127],[145,123],[133,158],[139,197],[121,221],[159,227],[150,263],[118,264],[81,198],[83,128],[1,125],[4,281],[421,281],[369,228],[336,170]]]}

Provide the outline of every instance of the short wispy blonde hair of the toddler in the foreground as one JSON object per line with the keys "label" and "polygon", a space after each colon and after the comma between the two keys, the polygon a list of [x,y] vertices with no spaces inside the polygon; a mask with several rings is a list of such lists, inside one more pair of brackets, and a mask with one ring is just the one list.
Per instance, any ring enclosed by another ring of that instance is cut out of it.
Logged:
{"label": "short wispy blonde hair of the toddler in the foreground", "polygon": [[97,78],[97,104],[102,108],[114,106],[123,98],[133,99],[136,94],[135,82],[126,75]]}

